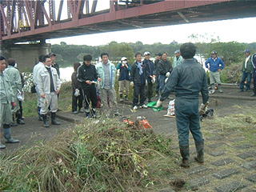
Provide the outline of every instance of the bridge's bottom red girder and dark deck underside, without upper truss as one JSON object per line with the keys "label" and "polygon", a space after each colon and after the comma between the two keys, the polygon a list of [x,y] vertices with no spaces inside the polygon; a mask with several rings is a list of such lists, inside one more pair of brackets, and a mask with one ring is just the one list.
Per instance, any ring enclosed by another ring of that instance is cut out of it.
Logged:
{"label": "bridge's bottom red girder and dark deck underside, without upper truss", "polygon": [[[158,3],[155,3],[157,6]],[[151,7],[151,6],[150,6]],[[150,8],[149,7],[149,8]],[[133,17],[118,12],[101,13],[79,18],[78,22],[66,21],[60,22],[53,26],[43,26],[34,31],[26,31],[19,34],[2,37],[6,42],[27,42],[34,40],[64,38],[82,34],[98,34],[118,30],[132,30],[146,28],[152,26],[170,26],[194,22],[209,22],[231,18],[249,18],[256,17],[256,2],[255,1],[231,1],[216,3],[207,6],[195,6],[186,9],[170,10],[158,12],[154,14],[136,15]],[[107,10],[106,10],[107,12]],[[148,10],[152,13],[151,10]],[[110,17],[108,21],[103,21],[102,17]],[[113,19],[112,19],[112,18]],[[239,27],[239,26],[238,26]]]}

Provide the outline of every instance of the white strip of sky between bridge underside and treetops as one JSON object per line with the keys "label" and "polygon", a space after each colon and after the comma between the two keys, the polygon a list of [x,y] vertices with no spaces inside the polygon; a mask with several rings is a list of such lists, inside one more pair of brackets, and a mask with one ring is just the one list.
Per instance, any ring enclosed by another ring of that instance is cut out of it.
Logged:
{"label": "white strip of sky between bridge underside and treetops", "polygon": [[[219,38],[220,42],[256,42],[255,30],[252,26],[256,23],[256,18],[239,18],[222,20],[218,22],[199,22],[182,24],[175,26],[159,26],[138,30],[123,30],[102,34],[79,35],[70,38],[48,39],[46,42],[59,44],[66,42],[68,45],[101,46],[109,42],[142,42],[143,44],[153,44],[161,42],[193,42],[189,38],[191,34],[203,35],[207,38]],[[82,39],[82,40],[81,40]],[[200,42],[207,42],[200,39]]]}

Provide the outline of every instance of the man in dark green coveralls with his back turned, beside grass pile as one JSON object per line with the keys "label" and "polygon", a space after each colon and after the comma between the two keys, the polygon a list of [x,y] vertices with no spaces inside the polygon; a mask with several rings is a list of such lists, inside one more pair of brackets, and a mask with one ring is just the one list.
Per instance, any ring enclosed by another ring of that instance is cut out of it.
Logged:
{"label": "man in dark green coveralls with his back turned, beside grass pile", "polygon": [[[193,135],[197,157],[196,161],[203,163],[204,140],[200,126],[200,114],[198,110],[199,92],[202,94],[202,103],[208,101],[208,86],[206,72],[197,62],[194,62],[196,46],[193,43],[185,43],[180,47],[184,62],[176,66],[158,99],[157,106],[175,90],[175,116],[178,129],[178,142],[182,155],[182,167],[189,168],[190,146],[189,134]],[[203,108],[204,105],[201,106]],[[202,109],[200,109],[202,110]]]}

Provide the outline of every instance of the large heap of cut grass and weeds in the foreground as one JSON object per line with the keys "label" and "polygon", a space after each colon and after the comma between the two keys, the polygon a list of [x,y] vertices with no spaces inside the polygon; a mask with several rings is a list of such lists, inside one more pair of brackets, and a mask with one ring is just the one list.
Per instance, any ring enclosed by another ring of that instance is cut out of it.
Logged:
{"label": "large heap of cut grass and weeds in the foreground", "polygon": [[170,140],[116,120],[88,121],[0,159],[1,191],[140,191],[168,185]]}

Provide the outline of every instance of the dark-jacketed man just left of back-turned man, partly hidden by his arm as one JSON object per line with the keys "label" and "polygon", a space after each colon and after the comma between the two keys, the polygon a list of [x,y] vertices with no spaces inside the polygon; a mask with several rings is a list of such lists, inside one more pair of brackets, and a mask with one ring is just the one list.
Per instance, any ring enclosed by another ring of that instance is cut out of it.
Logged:
{"label": "dark-jacketed man just left of back-turned man, partly hidden by his arm", "polygon": [[158,71],[159,71],[159,90],[160,94],[165,86],[166,78],[169,78],[171,71],[173,70],[173,66],[170,61],[167,60],[167,54],[162,54],[162,60],[158,62]]}

